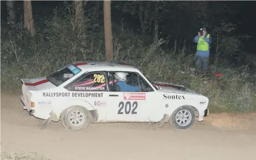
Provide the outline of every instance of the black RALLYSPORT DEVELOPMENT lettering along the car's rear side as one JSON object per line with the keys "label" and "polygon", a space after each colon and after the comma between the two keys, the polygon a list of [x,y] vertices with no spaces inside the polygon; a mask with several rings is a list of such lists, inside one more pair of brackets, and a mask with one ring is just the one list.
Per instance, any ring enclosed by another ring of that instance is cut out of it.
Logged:
{"label": "black RALLYSPORT DEVELOPMENT lettering along the car's rear side", "polygon": [[42,93],[42,97],[103,97],[103,93]]}

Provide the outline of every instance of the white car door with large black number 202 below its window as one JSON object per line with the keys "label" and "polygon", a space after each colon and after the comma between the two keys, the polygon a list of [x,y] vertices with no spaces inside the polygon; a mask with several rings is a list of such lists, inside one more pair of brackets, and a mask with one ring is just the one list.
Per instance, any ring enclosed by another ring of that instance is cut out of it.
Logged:
{"label": "white car door with large black number 202 below its window", "polygon": [[126,84],[133,86],[130,90],[129,88],[122,90],[120,81],[114,77],[115,72],[108,72],[109,98],[106,119],[108,121],[150,121],[148,118],[150,118],[154,90],[150,86],[147,90],[141,88],[138,73],[125,73],[128,74]]}

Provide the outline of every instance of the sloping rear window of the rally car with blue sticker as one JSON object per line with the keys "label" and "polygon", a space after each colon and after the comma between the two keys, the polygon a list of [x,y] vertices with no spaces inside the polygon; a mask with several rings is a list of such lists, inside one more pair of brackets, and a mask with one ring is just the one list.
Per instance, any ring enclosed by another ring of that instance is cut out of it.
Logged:
{"label": "sloping rear window of the rally car with blue sticker", "polygon": [[54,73],[51,73],[49,76],[47,76],[47,79],[55,86],[60,86],[62,83],[66,82],[68,79],[72,78],[79,72],[81,72],[79,68],[73,64],[70,64],[61,68],[60,70],[57,70]]}

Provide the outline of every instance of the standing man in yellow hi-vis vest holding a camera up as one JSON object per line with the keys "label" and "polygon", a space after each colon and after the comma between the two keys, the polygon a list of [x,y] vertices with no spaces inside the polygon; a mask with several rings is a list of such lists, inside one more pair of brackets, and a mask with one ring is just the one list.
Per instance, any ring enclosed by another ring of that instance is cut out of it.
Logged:
{"label": "standing man in yellow hi-vis vest holding a camera up", "polygon": [[196,50],[196,66],[203,70],[207,70],[209,67],[211,35],[208,34],[206,28],[203,27],[193,41],[198,43]]}

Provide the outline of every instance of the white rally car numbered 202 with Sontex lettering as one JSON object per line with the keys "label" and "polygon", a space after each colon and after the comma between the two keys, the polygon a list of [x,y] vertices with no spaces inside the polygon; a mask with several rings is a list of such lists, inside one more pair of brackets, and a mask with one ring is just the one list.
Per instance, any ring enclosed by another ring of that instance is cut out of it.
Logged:
{"label": "white rally car numbered 202 with Sontex lettering", "polygon": [[[123,77],[122,77],[123,76]],[[121,77],[121,78],[120,78]],[[209,114],[209,99],[174,84],[148,81],[135,67],[118,62],[71,63],[46,77],[22,79],[24,109],[62,121],[70,130],[98,122],[164,122],[188,129]]]}

